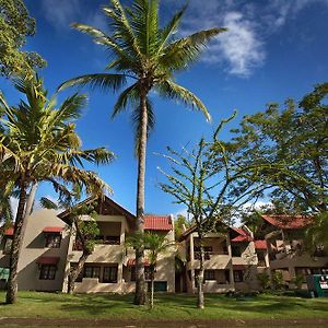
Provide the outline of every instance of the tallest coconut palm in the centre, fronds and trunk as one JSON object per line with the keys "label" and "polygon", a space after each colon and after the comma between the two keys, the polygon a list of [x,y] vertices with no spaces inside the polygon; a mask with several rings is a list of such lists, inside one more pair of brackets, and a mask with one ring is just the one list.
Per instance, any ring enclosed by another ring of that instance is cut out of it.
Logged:
{"label": "tallest coconut palm in the centre, fronds and trunk", "polygon": [[[150,106],[150,92],[200,110],[210,120],[204,104],[189,90],[174,82],[174,73],[195,62],[208,42],[225,28],[211,28],[175,38],[184,7],[165,26],[160,25],[160,0],[134,0],[124,7],[119,0],[110,0],[103,8],[108,17],[109,34],[85,24],[72,24],[78,31],[91,35],[96,44],[107,48],[110,62],[106,70],[113,72],[81,75],[59,86],[89,85],[102,90],[118,91],[113,117],[130,108],[136,121],[136,153],[138,156],[137,231],[143,232],[145,152],[149,132],[154,127],[154,113]],[[144,304],[143,247],[136,249],[137,279],[136,304]]]}

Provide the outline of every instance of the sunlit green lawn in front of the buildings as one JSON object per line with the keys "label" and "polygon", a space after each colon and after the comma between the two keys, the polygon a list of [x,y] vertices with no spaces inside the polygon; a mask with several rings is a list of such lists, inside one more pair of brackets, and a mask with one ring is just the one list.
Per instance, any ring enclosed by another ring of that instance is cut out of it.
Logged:
{"label": "sunlit green lawn in front of the buildings", "polygon": [[[4,293],[0,293],[4,300]],[[20,292],[15,305],[0,305],[0,317],[105,318],[105,319],[250,319],[328,318],[328,298],[259,295],[238,301],[224,295],[207,295],[206,309],[198,311],[196,297],[157,294],[155,308],[132,305],[132,295],[66,295]]]}

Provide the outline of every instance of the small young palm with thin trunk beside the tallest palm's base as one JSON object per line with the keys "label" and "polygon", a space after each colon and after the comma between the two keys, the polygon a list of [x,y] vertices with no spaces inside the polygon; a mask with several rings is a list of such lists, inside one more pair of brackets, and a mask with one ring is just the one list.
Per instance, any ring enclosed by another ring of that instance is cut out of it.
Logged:
{"label": "small young palm with thin trunk beside the tallest palm's base", "polygon": [[151,280],[151,290],[150,290],[150,307],[154,307],[154,279],[156,272],[156,265],[159,256],[167,251],[175,245],[175,242],[166,238],[164,234],[145,232],[143,234],[134,234],[126,241],[127,247],[145,247],[147,258],[150,265],[150,280]]}

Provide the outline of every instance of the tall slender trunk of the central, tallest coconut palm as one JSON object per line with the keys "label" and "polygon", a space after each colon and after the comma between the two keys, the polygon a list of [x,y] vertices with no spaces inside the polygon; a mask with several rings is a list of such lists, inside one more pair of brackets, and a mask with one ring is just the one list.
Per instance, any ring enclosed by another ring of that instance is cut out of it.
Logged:
{"label": "tall slender trunk of the central, tallest coconut palm", "polygon": [[[147,92],[140,92],[140,110],[141,110],[141,131],[138,152],[138,187],[137,187],[137,233],[143,233],[144,221],[144,175],[145,175],[145,151],[147,151]],[[136,249],[136,294],[134,304],[145,304],[145,283],[144,283],[144,247]]]}

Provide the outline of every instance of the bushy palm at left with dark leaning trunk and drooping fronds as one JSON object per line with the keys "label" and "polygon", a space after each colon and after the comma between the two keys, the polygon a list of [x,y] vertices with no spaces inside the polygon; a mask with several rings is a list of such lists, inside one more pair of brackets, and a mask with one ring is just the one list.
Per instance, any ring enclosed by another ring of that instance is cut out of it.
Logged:
{"label": "bushy palm at left with dark leaning trunk and drooping fronds", "polygon": [[19,206],[10,254],[7,303],[16,301],[17,261],[21,249],[28,189],[38,181],[49,181],[67,197],[71,190],[102,194],[107,187],[98,176],[83,168],[83,161],[108,163],[105,149],[82,150],[73,120],[80,117],[85,96],[74,94],[55,109],[56,99],[47,99],[43,80],[19,80],[15,87],[26,96],[16,107],[3,106],[0,128],[0,188],[8,195],[19,190]]}

